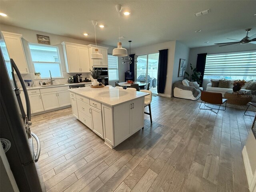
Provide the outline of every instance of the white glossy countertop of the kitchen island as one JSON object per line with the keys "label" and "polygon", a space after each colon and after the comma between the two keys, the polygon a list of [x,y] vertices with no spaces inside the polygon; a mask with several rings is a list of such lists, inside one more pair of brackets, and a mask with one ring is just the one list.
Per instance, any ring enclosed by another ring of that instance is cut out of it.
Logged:
{"label": "white glossy countertop of the kitchen island", "polygon": [[108,106],[116,106],[118,104],[149,95],[145,92],[128,91],[125,89],[118,89],[114,87],[82,87],[77,89],[69,89],[69,91],[96,100]]}

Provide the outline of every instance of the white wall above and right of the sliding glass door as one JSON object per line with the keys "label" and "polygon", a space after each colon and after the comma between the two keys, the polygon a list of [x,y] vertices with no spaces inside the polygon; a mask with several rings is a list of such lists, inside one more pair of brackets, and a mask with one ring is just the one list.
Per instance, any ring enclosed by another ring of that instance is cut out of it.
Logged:
{"label": "white wall above and right of the sliding glass door", "polygon": [[176,41],[169,41],[169,42],[132,49],[132,53],[135,53],[136,55],[156,53],[159,50],[168,49],[168,65],[167,65],[166,86],[164,90],[164,95],[169,97],[171,96],[171,92],[172,92],[172,72],[174,67],[175,43]]}

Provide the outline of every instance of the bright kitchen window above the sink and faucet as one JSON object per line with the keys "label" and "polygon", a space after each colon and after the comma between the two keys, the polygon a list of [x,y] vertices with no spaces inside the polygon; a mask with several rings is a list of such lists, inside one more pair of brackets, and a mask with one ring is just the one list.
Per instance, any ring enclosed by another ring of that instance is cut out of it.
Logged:
{"label": "bright kitchen window above the sink and faucet", "polygon": [[62,77],[58,47],[30,43],[28,45],[35,72],[40,72],[42,78],[49,78],[50,70],[52,78]]}

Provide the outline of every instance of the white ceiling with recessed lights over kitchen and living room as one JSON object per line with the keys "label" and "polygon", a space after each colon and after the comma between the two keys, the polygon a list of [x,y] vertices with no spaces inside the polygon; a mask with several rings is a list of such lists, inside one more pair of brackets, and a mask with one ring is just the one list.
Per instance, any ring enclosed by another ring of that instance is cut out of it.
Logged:
{"label": "white ceiling with recessed lights over kitchen and living room", "polygon": [[[120,36],[125,37],[121,42],[126,48],[128,40],[132,40],[131,47],[179,40],[194,48],[232,41],[227,38],[241,40],[246,28],[252,28],[248,36],[256,34],[255,0],[1,0],[0,12],[8,14],[1,16],[1,24],[94,42],[91,20],[97,20],[105,26],[96,28],[97,42],[116,46],[116,4],[123,6],[122,12],[131,12],[120,14]],[[194,16],[206,9],[209,14]]]}

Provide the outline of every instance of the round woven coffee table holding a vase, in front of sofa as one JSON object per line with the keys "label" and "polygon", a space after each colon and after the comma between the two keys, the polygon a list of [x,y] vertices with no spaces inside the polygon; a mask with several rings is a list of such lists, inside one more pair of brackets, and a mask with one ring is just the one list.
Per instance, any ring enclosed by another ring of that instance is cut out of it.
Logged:
{"label": "round woven coffee table holding a vase, in front of sofa", "polygon": [[224,98],[228,99],[228,103],[235,105],[246,105],[252,100],[252,94],[250,92],[239,94],[232,91],[227,91],[224,94]]}

